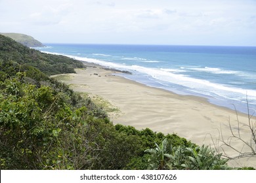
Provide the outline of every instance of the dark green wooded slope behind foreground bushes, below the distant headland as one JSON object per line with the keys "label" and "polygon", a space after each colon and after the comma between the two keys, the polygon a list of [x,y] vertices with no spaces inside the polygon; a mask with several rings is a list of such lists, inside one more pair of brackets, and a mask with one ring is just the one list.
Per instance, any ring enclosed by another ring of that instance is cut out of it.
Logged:
{"label": "dark green wooded slope behind foreground bushes, below the distant headland", "polygon": [[7,61],[9,63],[11,61],[12,65],[16,65],[16,67],[18,67],[16,69],[32,66],[46,75],[75,73],[74,68],[84,67],[81,61],[65,56],[41,53],[38,50],[28,48],[9,37],[0,35],[0,63],[5,66],[7,63],[4,62]]}

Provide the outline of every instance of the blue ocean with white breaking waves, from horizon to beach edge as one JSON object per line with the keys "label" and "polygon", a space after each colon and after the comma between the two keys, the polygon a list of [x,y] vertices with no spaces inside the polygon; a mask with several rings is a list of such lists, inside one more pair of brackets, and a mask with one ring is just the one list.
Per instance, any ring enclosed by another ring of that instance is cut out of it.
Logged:
{"label": "blue ocean with white breaking waves, from horizon to beach edge", "polygon": [[[62,54],[112,69],[120,76],[250,114],[256,110],[256,47],[46,44]],[[116,74],[115,74],[116,75]]]}

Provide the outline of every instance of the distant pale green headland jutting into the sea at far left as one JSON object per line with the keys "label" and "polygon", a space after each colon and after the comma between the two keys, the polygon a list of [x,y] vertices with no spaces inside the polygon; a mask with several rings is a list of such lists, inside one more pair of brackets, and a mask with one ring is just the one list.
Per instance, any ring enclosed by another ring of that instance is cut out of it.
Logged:
{"label": "distant pale green headland jutting into the sea at far left", "polygon": [[20,33],[0,33],[1,35],[10,37],[16,42],[20,42],[21,44],[28,47],[42,47],[44,46],[41,42],[37,41],[33,37],[29,35],[24,35]]}

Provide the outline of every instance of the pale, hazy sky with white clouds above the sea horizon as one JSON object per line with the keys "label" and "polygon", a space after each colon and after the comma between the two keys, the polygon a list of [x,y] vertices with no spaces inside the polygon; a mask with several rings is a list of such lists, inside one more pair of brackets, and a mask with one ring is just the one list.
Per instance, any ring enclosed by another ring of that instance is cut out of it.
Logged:
{"label": "pale, hazy sky with white clouds above the sea horizon", "polygon": [[43,43],[256,46],[256,0],[0,0],[0,32]]}

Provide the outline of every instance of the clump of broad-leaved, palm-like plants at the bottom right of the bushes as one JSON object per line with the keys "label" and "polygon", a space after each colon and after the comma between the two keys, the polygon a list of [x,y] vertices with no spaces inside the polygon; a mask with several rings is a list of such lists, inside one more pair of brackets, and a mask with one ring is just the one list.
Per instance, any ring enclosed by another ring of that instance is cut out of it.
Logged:
{"label": "clump of broad-leaved, palm-like plants at the bottom right of the bushes", "polygon": [[221,158],[221,154],[215,154],[209,146],[173,147],[164,139],[160,146],[156,144],[156,148],[147,149],[145,152],[151,155],[148,159],[149,169],[228,169],[226,159]]}

